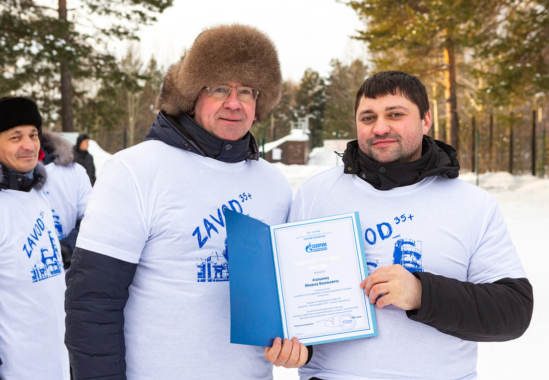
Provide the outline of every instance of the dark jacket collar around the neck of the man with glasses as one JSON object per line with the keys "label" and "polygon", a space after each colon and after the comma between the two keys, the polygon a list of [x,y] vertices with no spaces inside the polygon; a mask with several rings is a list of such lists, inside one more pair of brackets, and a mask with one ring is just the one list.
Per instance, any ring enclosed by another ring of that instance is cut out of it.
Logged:
{"label": "dark jacket collar around the neck of the man with glasses", "polygon": [[240,141],[222,140],[202,128],[188,113],[175,118],[160,112],[145,140],[160,140],[167,145],[228,163],[259,160],[261,157],[257,141],[250,132]]}

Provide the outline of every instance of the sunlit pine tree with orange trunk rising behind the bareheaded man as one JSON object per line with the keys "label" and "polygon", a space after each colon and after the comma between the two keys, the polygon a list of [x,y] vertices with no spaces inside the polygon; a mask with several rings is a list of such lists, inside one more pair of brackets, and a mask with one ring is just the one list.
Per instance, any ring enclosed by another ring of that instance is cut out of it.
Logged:
{"label": "sunlit pine tree with orange trunk rising behind the bareheaded man", "polygon": [[[505,0],[368,0],[348,4],[366,22],[360,39],[374,54],[377,70],[444,75],[447,137],[458,149],[456,55],[490,38]],[[474,52],[473,52],[474,54]]]}

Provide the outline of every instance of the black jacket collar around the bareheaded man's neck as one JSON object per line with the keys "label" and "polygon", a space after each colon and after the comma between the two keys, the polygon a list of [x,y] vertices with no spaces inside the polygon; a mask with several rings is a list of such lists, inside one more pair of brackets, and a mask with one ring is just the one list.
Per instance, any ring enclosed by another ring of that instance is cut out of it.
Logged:
{"label": "black jacket collar around the bareheaded man's neck", "polygon": [[457,152],[446,143],[423,136],[422,156],[411,162],[380,164],[372,161],[360,148],[358,141],[347,143],[343,154],[345,174],[356,174],[378,190],[389,190],[395,187],[408,186],[424,178],[441,175],[457,178],[460,163]]}

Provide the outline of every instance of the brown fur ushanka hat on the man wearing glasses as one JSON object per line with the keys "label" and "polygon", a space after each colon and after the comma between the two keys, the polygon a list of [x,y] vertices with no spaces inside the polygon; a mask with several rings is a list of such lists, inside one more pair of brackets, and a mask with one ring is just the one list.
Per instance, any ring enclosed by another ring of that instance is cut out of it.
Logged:
{"label": "brown fur ushanka hat on the man wearing glasses", "polygon": [[275,44],[255,27],[218,25],[194,40],[184,59],[164,76],[155,109],[172,116],[194,110],[204,87],[237,82],[259,91],[257,121],[270,114],[282,96],[282,74]]}

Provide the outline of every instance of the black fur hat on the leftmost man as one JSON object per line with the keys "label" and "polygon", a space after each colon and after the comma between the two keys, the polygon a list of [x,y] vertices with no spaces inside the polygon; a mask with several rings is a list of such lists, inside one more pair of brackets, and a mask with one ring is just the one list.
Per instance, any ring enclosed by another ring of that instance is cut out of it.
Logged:
{"label": "black fur hat on the leftmost man", "polygon": [[0,132],[14,126],[34,125],[42,134],[42,116],[35,102],[26,97],[2,97],[0,99]]}

